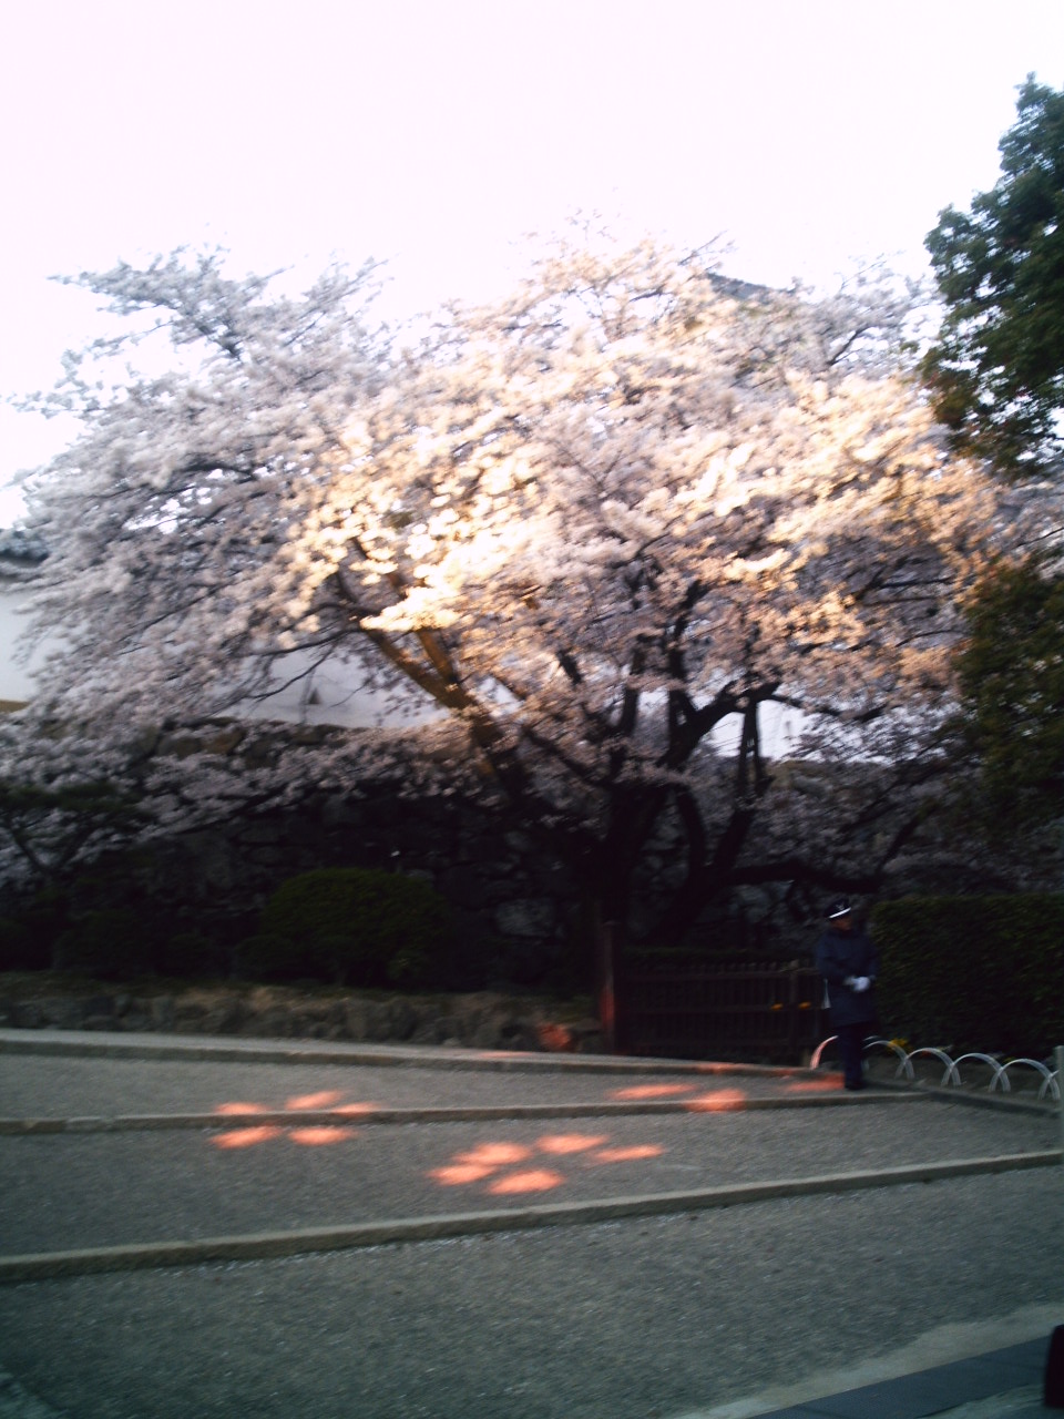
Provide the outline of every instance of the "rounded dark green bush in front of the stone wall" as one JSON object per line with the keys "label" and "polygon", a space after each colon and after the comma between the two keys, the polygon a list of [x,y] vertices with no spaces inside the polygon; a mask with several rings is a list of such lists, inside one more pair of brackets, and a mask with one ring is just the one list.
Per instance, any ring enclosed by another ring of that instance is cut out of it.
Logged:
{"label": "rounded dark green bush in front of the stone wall", "polygon": [[321,867],[278,887],[240,965],[267,981],[417,989],[453,935],[448,904],[420,877]]}

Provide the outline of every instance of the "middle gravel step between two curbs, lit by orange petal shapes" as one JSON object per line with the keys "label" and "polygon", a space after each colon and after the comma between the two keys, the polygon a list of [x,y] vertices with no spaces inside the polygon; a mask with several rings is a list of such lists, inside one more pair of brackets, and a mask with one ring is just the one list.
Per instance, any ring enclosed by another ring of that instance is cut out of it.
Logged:
{"label": "middle gravel step between two curbs, lit by orange petal shapes", "polygon": [[1053,1148],[1055,1120],[813,1111],[0,1138],[7,1253],[680,1192]]}

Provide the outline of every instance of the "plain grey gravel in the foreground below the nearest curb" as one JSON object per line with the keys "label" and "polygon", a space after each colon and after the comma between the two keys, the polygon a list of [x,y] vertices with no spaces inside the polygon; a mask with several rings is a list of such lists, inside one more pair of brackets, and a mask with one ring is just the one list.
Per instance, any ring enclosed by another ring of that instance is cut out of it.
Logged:
{"label": "plain grey gravel in the foreground below the nearest curb", "polygon": [[1055,1171],[0,1288],[0,1358],[77,1419],[680,1419],[1036,1301]]}

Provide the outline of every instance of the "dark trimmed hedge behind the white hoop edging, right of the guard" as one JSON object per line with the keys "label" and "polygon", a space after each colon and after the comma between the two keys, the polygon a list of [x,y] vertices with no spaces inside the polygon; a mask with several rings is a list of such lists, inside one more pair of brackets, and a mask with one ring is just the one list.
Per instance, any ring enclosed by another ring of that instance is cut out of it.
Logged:
{"label": "dark trimmed hedge behind the white hoop edging, right of the guard", "polygon": [[915,1049],[1046,1059],[1064,1044],[1064,895],[881,902],[882,1027]]}

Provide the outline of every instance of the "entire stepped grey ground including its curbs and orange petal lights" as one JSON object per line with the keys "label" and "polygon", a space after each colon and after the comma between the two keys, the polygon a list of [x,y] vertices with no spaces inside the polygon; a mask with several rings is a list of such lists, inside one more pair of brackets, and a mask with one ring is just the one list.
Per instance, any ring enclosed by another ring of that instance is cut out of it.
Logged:
{"label": "entire stepped grey ground including its curbs and orange petal lights", "polygon": [[1060,1142],[803,1071],[0,1032],[0,1419],[1050,1415]]}

